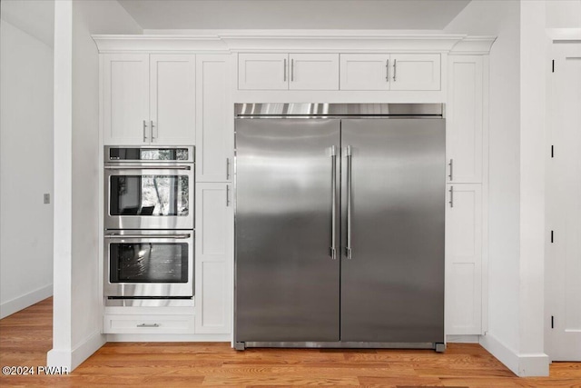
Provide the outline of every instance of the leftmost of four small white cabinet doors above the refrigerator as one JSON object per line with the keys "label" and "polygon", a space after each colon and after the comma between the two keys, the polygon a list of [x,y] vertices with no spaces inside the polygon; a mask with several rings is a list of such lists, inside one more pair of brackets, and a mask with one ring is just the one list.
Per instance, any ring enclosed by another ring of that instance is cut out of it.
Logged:
{"label": "leftmost of four small white cabinet doors above the refrigerator", "polygon": [[238,55],[238,88],[247,90],[287,90],[289,55]]}

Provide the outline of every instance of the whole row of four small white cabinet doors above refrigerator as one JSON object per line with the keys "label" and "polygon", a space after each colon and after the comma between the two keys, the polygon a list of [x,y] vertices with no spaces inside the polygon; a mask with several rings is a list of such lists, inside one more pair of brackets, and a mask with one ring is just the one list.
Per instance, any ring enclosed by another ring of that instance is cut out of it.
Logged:
{"label": "whole row of four small white cabinet doors above refrigerator", "polygon": [[440,90],[439,54],[240,54],[241,90]]}

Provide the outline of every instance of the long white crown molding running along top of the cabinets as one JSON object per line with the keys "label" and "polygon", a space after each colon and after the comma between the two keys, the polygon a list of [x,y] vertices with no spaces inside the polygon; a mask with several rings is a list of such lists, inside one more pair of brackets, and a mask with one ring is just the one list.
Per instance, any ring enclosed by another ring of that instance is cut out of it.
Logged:
{"label": "long white crown molding running along top of the cabinets", "polygon": [[453,53],[487,54],[493,36],[380,31],[225,31],[196,35],[93,35],[100,53]]}

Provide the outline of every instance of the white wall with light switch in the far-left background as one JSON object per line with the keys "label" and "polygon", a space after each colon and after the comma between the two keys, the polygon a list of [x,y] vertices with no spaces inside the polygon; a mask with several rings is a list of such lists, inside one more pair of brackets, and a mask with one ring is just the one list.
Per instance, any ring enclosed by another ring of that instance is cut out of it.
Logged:
{"label": "white wall with light switch in the far-left background", "polygon": [[0,22],[0,318],[53,293],[53,48],[5,20],[34,24],[13,5]]}

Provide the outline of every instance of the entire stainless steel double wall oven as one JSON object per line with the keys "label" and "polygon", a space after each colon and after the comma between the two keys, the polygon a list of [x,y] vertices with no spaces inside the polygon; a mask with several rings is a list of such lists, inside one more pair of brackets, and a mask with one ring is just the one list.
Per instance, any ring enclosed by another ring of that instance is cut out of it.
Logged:
{"label": "entire stainless steel double wall oven", "polygon": [[104,149],[106,305],[189,305],[194,148]]}

